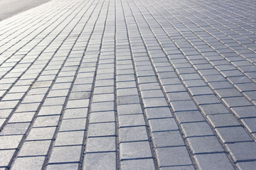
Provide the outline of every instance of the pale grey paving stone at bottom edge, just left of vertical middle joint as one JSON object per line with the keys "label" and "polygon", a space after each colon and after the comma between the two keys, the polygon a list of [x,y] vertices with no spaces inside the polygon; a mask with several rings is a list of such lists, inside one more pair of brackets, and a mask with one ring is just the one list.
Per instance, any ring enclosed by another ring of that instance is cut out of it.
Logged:
{"label": "pale grey paving stone at bottom edge, just left of vertical middle joint", "polygon": [[87,153],[82,169],[112,170],[117,168],[116,162],[115,152]]}

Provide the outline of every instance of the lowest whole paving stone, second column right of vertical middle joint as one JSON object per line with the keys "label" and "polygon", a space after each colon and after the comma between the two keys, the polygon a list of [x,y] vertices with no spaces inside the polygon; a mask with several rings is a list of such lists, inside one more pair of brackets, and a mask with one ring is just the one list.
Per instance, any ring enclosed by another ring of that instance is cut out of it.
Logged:
{"label": "lowest whole paving stone, second column right of vertical middle joint", "polygon": [[156,149],[159,168],[193,164],[186,147],[164,147]]}

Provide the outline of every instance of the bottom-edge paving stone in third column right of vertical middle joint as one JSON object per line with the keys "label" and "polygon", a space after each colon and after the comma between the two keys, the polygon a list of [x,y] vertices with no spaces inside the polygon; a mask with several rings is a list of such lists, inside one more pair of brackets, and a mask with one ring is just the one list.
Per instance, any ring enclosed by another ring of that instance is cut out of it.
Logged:
{"label": "bottom-edge paving stone in third column right of vertical middle joint", "polygon": [[225,153],[220,154],[196,154],[196,163],[199,169],[234,169]]}

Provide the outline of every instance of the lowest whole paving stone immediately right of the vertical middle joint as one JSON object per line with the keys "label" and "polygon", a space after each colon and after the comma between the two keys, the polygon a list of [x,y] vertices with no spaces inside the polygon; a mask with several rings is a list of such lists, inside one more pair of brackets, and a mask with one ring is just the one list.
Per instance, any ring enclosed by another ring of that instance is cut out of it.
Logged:
{"label": "lowest whole paving stone immediately right of the vertical middle joint", "polygon": [[149,142],[124,142],[120,143],[120,159],[152,158]]}

